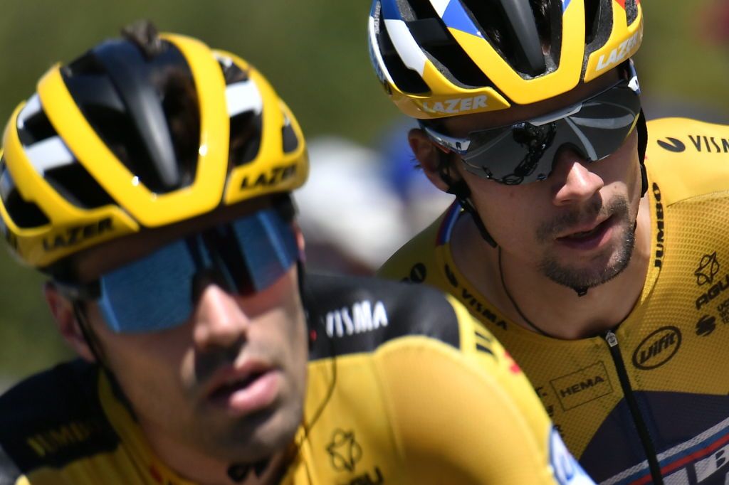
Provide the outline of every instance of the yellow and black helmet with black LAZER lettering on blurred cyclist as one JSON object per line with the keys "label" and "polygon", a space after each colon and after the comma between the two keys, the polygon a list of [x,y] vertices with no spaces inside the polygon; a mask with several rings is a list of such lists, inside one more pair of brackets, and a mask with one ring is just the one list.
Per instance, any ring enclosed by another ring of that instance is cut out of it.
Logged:
{"label": "yellow and black helmet with black LAZER lettering on blurred cyclist", "polygon": [[300,127],[258,71],[138,24],[50,68],[15,109],[0,229],[21,261],[48,269],[125,234],[290,192],[307,174]]}

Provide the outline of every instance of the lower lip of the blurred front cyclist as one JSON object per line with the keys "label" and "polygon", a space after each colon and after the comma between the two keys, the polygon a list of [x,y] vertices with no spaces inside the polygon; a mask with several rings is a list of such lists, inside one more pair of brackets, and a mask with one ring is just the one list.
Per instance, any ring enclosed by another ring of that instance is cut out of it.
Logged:
{"label": "lower lip of the blurred front cyclist", "polygon": [[251,414],[276,401],[280,387],[281,374],[278,371],[268,371],[258,376],[246,387],[227,393],[218,393],[208,398],[208,402],[231,414]]}

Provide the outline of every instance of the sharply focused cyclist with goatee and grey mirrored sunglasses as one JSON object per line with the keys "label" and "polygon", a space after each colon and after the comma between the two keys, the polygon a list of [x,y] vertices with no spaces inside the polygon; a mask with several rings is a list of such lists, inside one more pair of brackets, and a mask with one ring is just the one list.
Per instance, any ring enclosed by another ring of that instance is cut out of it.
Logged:
{"label": "sharply focused cyclist with goatee and grey mirrored sunglasses", "polygon": [[641,2],[375,0],[369,33],[457,201],[381,275],[469,307],[596,481],[725,484],[729,141],[646,125]]}

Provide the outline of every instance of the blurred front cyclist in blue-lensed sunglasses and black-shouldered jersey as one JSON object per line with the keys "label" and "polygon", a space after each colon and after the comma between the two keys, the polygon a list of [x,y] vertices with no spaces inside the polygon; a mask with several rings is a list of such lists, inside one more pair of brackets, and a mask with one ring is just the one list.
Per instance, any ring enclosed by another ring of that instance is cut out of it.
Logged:
{"label": "blurred front cyclist in blue-lensed sunglasses and black-shouldered jersey", "polygon": [[304,277],[304,139],[235,55],[136,24],[3,147],[4,236],[82,359],[0,398],[0,483],[593,483],[460,304]]}

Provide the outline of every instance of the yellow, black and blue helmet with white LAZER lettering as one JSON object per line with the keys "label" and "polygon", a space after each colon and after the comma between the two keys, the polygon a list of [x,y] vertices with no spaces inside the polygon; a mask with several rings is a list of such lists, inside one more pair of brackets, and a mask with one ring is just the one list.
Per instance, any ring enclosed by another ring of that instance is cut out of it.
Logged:
{"label": "yellow, black and blue helmet with white LAZER lettering", "polygon": [[640,0],[375,0],[368,39],[400,111],[434,119],[560,95],[642,35]]}

